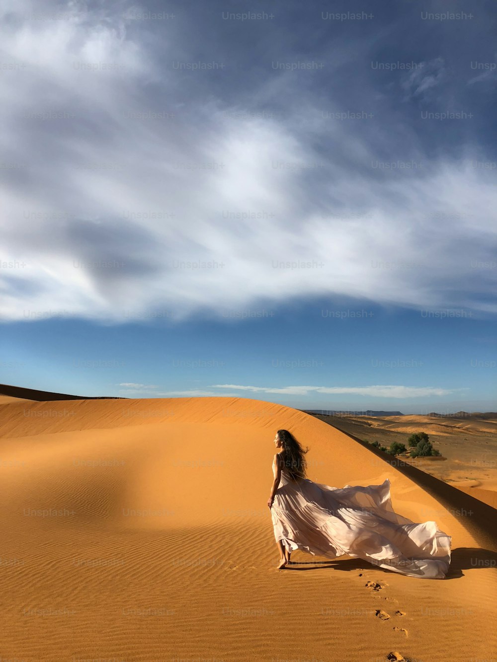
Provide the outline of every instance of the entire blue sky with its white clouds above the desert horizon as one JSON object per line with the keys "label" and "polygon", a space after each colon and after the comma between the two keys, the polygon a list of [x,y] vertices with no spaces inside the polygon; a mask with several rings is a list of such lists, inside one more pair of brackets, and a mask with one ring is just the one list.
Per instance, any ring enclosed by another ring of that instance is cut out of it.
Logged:
{"label": "entire blue sky with its white clouds above the desert horizon", "polygon": [[2,13],[3,383],[495,410],[493,3]]}

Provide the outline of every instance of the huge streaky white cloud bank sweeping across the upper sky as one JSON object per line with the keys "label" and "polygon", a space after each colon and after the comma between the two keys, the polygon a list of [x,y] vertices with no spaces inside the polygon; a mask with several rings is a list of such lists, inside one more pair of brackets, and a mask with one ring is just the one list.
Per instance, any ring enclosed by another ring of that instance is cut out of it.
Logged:
{"label": "huge streaky white cloud bank sweeping across the upper sky", "polygon": [[[26,64],[0,78],[0,148],[19,166],[5,171],[0,216],[1,260],[18,264],[0,271],[3,320],[55,310],[179,321],[323,295],[497,312],[497,270],[472,267],[494,260],[497,234],[495,173],[472,166],[486,160],[476,147],[459,162],[431,161],[407,138],[389,146],[374,128],[330,123],[317,95],[288,85],[278,87],[288,117],[235,117],[247,111],[242,94],[223,99],[213,87],[195,100],[200,79],[170,70],[185,44],[168,38],[156,52],[111,9],[47,23],[26,18],[31,3],[19,7],[19,26],[0,28],[3,59]],[[433,62],[410,80],[415,94],[437,85]],[[267,81],[260,87],[267,95]],[[24,117],[51,111],[74,117]],[[151,111],[175,117],[126,117]],[[323,140],[328,150],[315,147]]]}

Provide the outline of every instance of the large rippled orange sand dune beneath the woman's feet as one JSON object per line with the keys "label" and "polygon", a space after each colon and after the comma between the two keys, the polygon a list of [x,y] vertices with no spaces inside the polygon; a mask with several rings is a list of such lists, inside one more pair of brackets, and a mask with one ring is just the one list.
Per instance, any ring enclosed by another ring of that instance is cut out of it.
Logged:
{"label": "large rippled orange sand dune beneath the woman's feet", "polygon": [[[71,399],[7,401],[0,421],[7,659],[491,657],[492,509],[476,517],[460,493],[451,512],[453,488],[429,477],[428,493],[312,416],[229,397]],[[266,506],[278,428],[310,446],[315,481],[388,477],[395,510],[452,536],[447,579],[303,553],[278,572]]]}

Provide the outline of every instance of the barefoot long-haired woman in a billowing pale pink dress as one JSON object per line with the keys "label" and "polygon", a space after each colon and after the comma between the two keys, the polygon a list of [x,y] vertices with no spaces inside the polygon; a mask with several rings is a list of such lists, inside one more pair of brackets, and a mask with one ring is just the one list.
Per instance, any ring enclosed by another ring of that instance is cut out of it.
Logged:
{"label": "barefoot long-haired woman in a billowing pale pink dress", "polygon": [[343,489],[305,478],[305,450],[288,430],[274,437],[274,483],[268,499],[278,569],[294,549],[336,559],[359,557],[410,577],[443,579],[451,562],[451,536],[435,522],[415,524],[394,512],[390,481]]}

